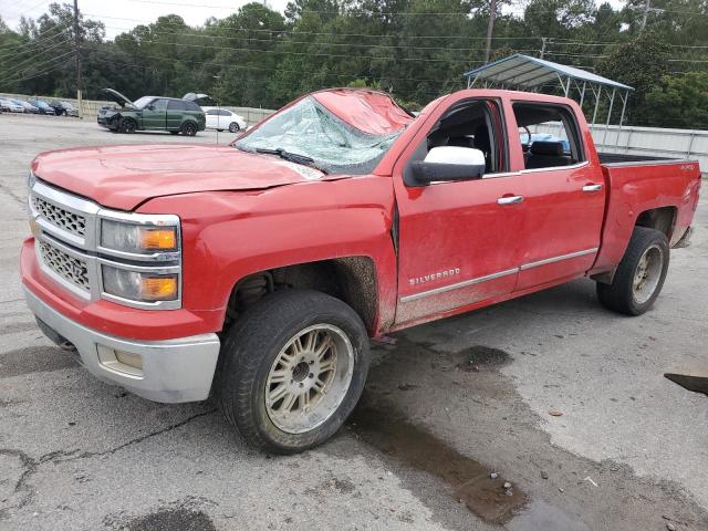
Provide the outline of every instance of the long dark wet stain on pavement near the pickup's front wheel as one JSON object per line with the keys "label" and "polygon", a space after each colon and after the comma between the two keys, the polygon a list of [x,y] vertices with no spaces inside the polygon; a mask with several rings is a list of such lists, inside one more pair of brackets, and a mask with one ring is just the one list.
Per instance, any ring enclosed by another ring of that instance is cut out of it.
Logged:
{"label": "long dark wet stain on pavement near the pickup's front wheel", "polygon": [[358,407],[350,423],[364,441],[388,457],[448,483],[455,499],[487,522],[508,522],[527,503],[519,488],[512,485],[508,493],[506,479],[492,479],[491,470],[408,423],[392,407]]}

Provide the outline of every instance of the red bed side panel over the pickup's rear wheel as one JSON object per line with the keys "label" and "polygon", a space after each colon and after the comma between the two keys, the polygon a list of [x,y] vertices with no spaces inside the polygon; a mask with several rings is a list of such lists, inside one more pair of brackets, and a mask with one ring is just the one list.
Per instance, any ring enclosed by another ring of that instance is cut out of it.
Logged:
{"label": "red bed side panel over the pickup's rear wheel", "polygon": [[691,223],[700,188],[696,160],[605,154],[600,154],[600,159],[607,198],[601,250],[591,273],[614,270],[643,212],[669,209],[673,222],[667,237],[675,244]]}

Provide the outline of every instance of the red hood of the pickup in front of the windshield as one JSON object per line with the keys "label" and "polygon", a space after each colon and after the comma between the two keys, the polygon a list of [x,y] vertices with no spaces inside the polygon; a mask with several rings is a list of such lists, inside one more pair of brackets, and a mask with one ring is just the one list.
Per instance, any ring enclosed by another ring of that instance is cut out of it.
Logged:
{"label": "red hood of the pickup in front of the windshield", "polygon": [[214,190],[257,190],[337,179],[272,155],[195,144],[77,147],[41,153],[34,175],[104,207],[133,210],[147,199]]}

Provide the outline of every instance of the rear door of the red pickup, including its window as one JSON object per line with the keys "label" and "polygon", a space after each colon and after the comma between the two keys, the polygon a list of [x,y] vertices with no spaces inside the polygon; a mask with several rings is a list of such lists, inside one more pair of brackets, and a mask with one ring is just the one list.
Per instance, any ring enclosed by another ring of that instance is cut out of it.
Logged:
{"label": "rear door of the red pickup, including its window", "polygon": [[[514,102],[519,142],[528,142],[520,178],[525,190],[524,249],[516,291],[583,274],[597,254],[604,177],[590,164],[573,110]],[[513,140],[513,139],[512,139]]]}

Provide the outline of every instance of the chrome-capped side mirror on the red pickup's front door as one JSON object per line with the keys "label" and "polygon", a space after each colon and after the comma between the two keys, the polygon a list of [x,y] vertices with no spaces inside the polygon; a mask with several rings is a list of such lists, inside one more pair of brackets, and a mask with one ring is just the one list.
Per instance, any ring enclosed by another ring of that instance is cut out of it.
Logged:
{"label": "chrome-capped side mirror on the red pickup's front door", "polygon": [[435,181],[471,180],[485,175],[485,154],[471,147],[438,146],[425,160],[412,164],[413,176],[420,185]]}

